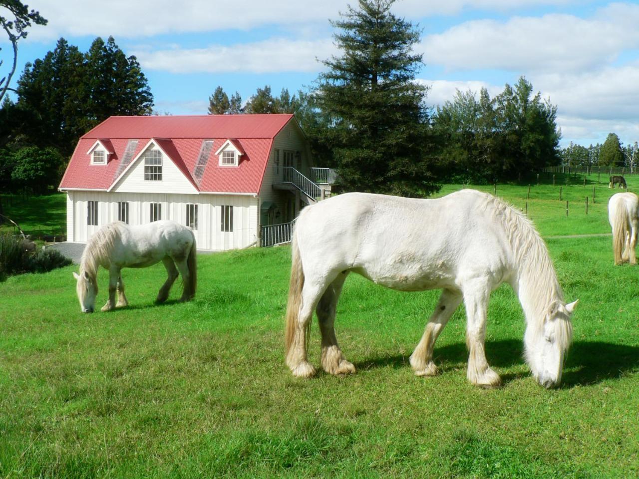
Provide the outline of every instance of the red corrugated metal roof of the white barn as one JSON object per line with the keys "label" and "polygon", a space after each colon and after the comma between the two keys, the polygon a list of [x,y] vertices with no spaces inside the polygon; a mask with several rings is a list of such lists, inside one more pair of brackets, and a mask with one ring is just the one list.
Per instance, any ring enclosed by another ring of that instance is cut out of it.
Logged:
{"label": "red corrugated metal roof of the white barn", "polygon": [[[139,140],[135,158],[153,139],[201,192],[258,194],[273,138],[291,118],[289,114],[111,117],[82,136],[59,188],[107,190],[116,179],[128,140]],[[96,139],[110,141],[114,149],[107,165],[91,165],[86,155]],[[213,148],[198,186],[193,172],[204,139],[213,139]],[[236,167],[220,166],[214,154],[227,140],[243,151]]]}

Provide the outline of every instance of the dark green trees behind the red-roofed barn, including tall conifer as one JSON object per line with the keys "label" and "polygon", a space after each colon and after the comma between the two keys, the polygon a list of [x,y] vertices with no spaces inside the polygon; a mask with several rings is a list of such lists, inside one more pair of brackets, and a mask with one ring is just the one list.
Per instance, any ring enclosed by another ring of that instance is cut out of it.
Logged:
{"label": "dark green trees behind the red-roofed barn, including tall conifer", "polygon": [[[273,95],[265,85],[243,102],[219,86],[208,113],[295,113],[316,165],[337,169],[345,190],[426,196],[443,181],[520,180],[561,161],[557,107],[524,77],[493,98],[458,91],[430,108],[416,80],[419,26],[394,15],[394,1],[358,0],[331,21],[339,54],[307,91]],[[87,52],[61,38],[27,63],[16,93],[0,108],[5,188],[57,185],[82,134],[112,115],[153,113],[137,59],[112,37]]]}

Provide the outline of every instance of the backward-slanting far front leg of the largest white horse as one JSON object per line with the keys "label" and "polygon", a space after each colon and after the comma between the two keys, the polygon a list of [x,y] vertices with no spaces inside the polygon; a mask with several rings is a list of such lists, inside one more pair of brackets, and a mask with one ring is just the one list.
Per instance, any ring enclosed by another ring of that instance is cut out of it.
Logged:
{"label": "backward-slanting far front leg of the largest white horse", "polygon": [[426,330],[415,351],[410,355],[410,365],[417,376],[435,376],[437,367],[433,363],[433,347],[450,316],[455,312],[463,296],[460,291],[444,289],[435,311],[431,315]]}

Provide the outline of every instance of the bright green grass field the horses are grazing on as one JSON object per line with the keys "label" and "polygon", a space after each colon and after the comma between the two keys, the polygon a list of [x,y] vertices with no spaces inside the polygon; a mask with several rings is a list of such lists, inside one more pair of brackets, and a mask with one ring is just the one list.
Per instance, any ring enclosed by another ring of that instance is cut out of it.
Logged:
{"label": "bright green grass field the horses are grazing on", "polygon": [[[435,347],[441,374],[413,376],[408,356],[437,291],[352,275],[335,326],[358,372],[304,380],[283,359],[288,247],[199,255],[199,291],[185,304],[176,287],[153,305],[161,265],[125,270],[131,306],[90,315],[68,267],[0,284],[0,477],[638,476],[639,269],[612,266],[608,236],[551,238],[610,231],[617,190],[579,181],[563,183],[563,202],[558,185],[534,185],[528,200],[566,299],[580,299],[561,388],[530,377],[506,286],[486,338],[504,386],[484,390],[466,381],[463,307]],[[527,186],[497,190],[525,208]],[[316,324],[310,357],[318,365]]]}

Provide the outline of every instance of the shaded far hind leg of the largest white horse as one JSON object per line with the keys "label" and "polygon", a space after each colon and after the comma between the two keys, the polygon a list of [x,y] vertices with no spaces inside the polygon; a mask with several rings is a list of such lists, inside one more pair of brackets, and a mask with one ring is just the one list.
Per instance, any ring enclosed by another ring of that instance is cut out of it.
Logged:
{"label": "shaded far hind leg of the largest white horse", "polygon": [[316,313],[318,315],[319,331],[321,332],[321,366],[330,374],[353,374],[355,366],[346,361],[342,350],[337,345],[335,337],[335,310],[339,294],[342,292],[348,271],[339,273],[337,278],[328,285],[319,299]]}

